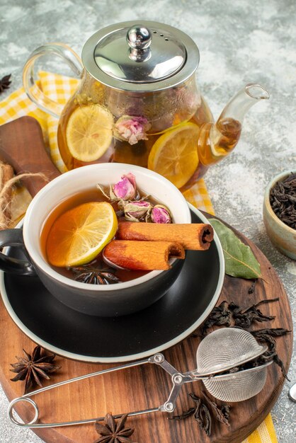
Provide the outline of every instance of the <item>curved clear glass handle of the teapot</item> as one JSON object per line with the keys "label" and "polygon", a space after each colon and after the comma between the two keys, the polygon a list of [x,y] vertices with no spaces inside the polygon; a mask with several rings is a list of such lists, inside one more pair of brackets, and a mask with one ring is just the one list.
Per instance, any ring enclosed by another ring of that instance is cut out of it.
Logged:
{"label": "curved clear glass handle of the teapot", "polygon": [[64,108],[64,105],[51,100],[38,87],[34,77],[35,61],[42,55],[55,54],[62,57],[64,61],[69,64],[69,67],[74,71],[76,76],[81,76],[84,69],[80,57],[74,52],[71,47],[63,43],[47,43],[35,49],[30,54],[25,67],[23,68],[23,87],[30,100],[32,100],[38,108],[44,110],[46,113],[59,118]]}

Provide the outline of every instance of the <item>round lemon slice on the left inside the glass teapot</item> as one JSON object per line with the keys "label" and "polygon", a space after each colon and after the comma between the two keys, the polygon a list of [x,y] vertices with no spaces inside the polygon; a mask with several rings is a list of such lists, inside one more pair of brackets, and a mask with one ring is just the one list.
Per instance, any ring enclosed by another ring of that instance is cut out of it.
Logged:
{"label": "round lemon slice on the left inside the glass teapot", "polygon": [[97,160],[112,142],[113,116],[101,105],[81,106],[69,118],[66,137],[74,159]]}

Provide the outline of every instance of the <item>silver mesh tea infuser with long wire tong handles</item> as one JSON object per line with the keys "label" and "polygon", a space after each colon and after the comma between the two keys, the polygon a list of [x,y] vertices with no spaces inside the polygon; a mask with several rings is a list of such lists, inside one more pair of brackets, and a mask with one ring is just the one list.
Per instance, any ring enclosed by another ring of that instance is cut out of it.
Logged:
{"label": "silver mesh tea infuser with long wire tong handles", "polygon": [[[202,380],[207,391],[221,401],[244,401],[248,398],[256,396],[256,394],[263,389],[267,376],[266,367],[271,364],[272,361],[251,369],[242,369],[241,371],[233,373],[229,372],[227,374],[221,373],[234,367],[237,368],[241,364],[259,357],[266,352],[267,349],[267,346],[259,345],[253,335],[246,330],[238,328],[218,329],[207,335],[198,346],[196,355],[197,369],[194,369],[193,371],[183,373],[178,372],[177,369],[166,361],[164,355],[157,353],[147,359],[142,359],[137,362],[127,363],[119,367],[113,367],[104,369],[103,371],[78,376],[74,379],[61,381],[57,384],[52,384],[51,386],[47,386],[15,398],[8,406],[8,417],[15,425],[31,428],[82,425],[88,422],[103,420],[103,417],[101,417],[89,418],[85,420],[74,420],[69,422],[38,423],[38,405],[30,397],[44,391],[49,391],[50,389],[55,389],[65,384],[73,383],[74,381],[106,374],[108,372],[119,371],[121,369],[140,366],[146,363],[157,364],[164,369],[164,371],[168,372],[168,374],[171,375],[173,387],[171,389],[171,393],[169,394],[169,398],[164,404],[159,405],[156,408],[133,411],[129,413],[130,416],[153,413],[157,411],[172,413],[176,408],[176,399],[178,398],[183,384],[198,380]],[[13,408],[16,403],[20,401],[30,403],[35,410],[33,420],[28,423],[19,422],[13,415]],[[118,418],[120,415],[122,414],[115,415],[114,417]]]}

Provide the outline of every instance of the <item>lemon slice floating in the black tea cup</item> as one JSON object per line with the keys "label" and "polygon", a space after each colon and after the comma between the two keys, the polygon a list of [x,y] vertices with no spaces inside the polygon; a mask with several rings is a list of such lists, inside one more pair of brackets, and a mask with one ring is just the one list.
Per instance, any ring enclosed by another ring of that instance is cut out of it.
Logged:
{"label": "lemon slice floating in the black tea cup", "polygon": [[84,203],[58,217],[47,236],[50,265],[67,267],[91,262],[115,236],[118,221],[107,202]]}

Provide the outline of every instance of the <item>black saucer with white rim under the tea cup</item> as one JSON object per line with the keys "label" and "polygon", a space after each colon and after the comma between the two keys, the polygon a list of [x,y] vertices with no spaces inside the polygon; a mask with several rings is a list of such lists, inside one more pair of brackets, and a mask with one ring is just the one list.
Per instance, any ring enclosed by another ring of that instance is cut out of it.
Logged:
{"label": "black saucer with white rim under the tea cup", "polygon": [[[193,222],[205,217],[190,206]],[[16,255],[12,249],[11,255]],[[186,338],[212,311],[224,279],[219,240],[208,251],[188,251],[169,292],[130,316],[88,316],[60,303],[38,277],[2,272],[0,290],[13,321],[47,350],[87,362],[123,362],[147,357]]]}

